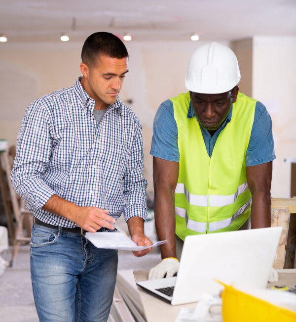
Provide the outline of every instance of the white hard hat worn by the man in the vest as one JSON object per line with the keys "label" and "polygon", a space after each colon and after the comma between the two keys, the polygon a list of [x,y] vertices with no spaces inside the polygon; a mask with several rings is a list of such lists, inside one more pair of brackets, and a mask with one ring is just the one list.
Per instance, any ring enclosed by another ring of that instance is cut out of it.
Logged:
{"label": "white hard hat worn by the man in the vest", "polygon": [[219,43],[198,47],[191,55],[185,87],[188,91],[205,94],[228,92],[240,80],[234,52]]}

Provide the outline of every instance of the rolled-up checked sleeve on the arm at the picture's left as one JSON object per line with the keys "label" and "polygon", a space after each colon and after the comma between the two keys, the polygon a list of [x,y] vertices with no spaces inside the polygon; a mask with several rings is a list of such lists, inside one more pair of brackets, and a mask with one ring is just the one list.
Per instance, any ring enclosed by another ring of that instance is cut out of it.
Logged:
{"label": "rolled-up checked sleeve on the arm at the picture's left", "polygon": [[43,180],[51,151],[51,122],[41,100],[26,110],[18,132],[11,182],[32,209],[42,208],[54,194]]}

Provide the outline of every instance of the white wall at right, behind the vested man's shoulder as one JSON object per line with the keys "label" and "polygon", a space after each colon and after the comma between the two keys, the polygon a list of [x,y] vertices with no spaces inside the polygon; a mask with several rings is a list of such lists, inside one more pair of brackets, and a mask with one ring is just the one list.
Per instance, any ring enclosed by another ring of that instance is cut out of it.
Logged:
{"label": "white wall at right, behind the vested man's shoulder", "polygon": [[269,111],[275,154],[271,195],[290,197],[291,164],[296,157],[296,37],[254,37],[253,97]]}

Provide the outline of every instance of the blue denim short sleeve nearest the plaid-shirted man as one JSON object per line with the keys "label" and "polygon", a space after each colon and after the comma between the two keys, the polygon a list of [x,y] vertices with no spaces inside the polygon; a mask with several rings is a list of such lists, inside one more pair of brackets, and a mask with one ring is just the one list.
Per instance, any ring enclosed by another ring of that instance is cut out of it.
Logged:
{"label": "blue denim short sleeve nearest the plaid-shirted man", "polygon": [[178,129],[173,102],[169,99],[159,106],[154,117],[150,154],[160,159],[179,162]]}

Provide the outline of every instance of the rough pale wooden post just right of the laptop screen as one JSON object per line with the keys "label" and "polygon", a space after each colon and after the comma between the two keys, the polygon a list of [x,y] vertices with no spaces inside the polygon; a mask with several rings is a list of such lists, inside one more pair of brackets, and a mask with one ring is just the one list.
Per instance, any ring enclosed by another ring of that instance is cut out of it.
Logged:
{"label": "rough pale wooden post just right of the laptop screen", "polygon": [[289,219],[290,213],[288,208],[271,209],[271,227],[283,227],[279,246],[276,251],[276,259],[273,262],[275,269],[284,268]]}

